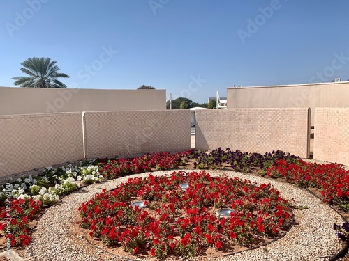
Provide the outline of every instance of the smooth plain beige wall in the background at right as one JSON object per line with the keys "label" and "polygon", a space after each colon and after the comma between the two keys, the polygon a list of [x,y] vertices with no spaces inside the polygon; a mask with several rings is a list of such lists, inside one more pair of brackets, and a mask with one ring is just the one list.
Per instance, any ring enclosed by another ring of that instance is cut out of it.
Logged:
{"label": "smooth plain beige wall in the background at right", "polygon": [[349,107],[349,82],[227,88],[228,109]]}

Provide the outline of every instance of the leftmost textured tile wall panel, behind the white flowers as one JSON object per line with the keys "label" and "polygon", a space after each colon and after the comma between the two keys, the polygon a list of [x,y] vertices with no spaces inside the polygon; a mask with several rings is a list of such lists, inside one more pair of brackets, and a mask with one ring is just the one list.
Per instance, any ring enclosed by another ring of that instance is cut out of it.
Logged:
{"label": "leftmost textured tile wall panel, behind the white flowers", "polygon": [[81,113],[0,116],[0,177],[82,159]]}

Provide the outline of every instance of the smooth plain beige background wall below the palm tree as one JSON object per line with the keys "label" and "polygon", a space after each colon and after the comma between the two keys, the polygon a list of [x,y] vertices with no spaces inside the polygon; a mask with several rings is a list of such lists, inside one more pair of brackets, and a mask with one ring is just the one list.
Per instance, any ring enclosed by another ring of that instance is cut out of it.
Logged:
{"label": "smooth plain beige background wall below the palm tree", "polygon": [[166,90],[0,87],[0,115],[166,109]]}

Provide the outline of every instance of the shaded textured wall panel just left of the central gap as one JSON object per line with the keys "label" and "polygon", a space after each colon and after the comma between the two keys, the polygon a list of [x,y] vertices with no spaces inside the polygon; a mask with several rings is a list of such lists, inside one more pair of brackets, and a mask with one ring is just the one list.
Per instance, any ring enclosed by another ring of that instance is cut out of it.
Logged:
{"label": "shaded textured wall panel just left of the central gap", "polygon": [[191,148],[191,112],[85,112],[86,157],[135,155]]}

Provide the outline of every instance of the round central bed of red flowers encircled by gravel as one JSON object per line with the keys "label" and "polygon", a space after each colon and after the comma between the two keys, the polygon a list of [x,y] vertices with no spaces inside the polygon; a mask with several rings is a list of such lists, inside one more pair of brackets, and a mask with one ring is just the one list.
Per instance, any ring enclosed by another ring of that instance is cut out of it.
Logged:
{"label": "round central bed of red flowers encircled by gravel", "polygon": [[[184,183],[187,189],[181,188]],[[146,207],[133,207],[135,201]],[[233,211],[226,218],[216,216],[222,208]],[[105,245],[157,258],[251,248],[279,237],[291,223],[290,205],[270,184],[214,178],[204,171],[130,178],[82,203],[79,212],[80,226]]]}

